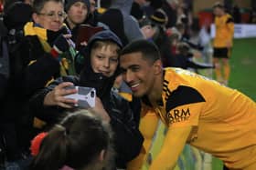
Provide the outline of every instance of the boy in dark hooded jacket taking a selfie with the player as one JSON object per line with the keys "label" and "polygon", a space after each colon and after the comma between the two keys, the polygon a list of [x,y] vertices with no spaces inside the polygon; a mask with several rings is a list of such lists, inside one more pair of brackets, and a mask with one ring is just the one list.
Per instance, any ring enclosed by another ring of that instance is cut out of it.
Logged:
{"label": "boy in dark hooded jacket taking a selfie with the player", "polygon": [[[111,31],[102,31],[91,37],[86,49],[85,65],[80,77],[64,76],[47,88],[42,89],[30,99],[30,109],[48,124],[54,124],[61,118],[64,110],[76,109],[74,99],[65,95],[74,94],[76,89],[67,89],[70,85],[94,87],[96,104],[91,108],[101,114],[102,119],[112,125],[116,167],[125,168],[126,163],[138,155],[143,143],[133,111],[129,103],[112,91],[112,85],[118,75],[118,51],[122,47],[120,39]],[[134,113],[139,114],[139,113]]]}

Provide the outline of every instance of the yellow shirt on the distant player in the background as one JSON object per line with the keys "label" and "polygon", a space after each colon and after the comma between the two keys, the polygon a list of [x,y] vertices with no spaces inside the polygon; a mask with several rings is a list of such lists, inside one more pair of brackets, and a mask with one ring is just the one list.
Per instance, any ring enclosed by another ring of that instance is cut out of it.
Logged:
{"label": "yellow shirt on the distant player in the background", "polygon": [[213,46],[217,48],[227,47],[227,43],[232,44],[234,35],[234,21],[231,15],[226,14],[215,17],[215,38]]}

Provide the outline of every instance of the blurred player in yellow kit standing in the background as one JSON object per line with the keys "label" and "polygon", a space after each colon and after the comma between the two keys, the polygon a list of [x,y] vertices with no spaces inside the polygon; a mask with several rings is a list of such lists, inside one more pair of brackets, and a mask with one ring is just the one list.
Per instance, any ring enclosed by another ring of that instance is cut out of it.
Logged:
{"label": "blurred player in yellow kit standing in the background", "polygon": [[233,45],[234,21],[232,16],[225,12],[224,6],[219,3],[213,6],[213,12],[216,27],[216,35],[213,41],[213,62],[215,64],[216,79],[220,83],[228,85],[230,74],[229,57]]}

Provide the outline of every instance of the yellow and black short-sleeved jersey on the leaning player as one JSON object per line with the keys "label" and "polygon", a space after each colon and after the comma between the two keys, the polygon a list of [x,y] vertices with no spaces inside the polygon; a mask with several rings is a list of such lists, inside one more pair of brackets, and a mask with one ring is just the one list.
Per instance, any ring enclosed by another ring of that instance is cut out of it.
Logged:
{"label": "yellow and black short-sleeved jersey on the leaning player", "polygon": [[192,126],[187,143],[229,167],[256,165],[256,105],[239,91],[186,70],[166,68],[162,102],[154,109],[168,128]]}

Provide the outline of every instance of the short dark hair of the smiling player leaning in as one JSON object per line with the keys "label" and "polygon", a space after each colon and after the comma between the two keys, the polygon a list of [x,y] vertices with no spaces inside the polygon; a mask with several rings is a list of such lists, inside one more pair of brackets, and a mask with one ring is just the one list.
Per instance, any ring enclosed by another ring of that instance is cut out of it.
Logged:
{"label": "short dark hair of the smiling player leaning in", "polygon": [[148,40],[136,40],[132,43],[124,46],[120,55],[126,55],[131,53],[142,53],[144,59],[150,60],[153,63],[160,59],[160,52],[158,47]]}

